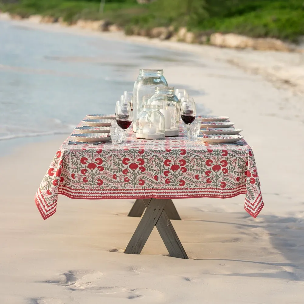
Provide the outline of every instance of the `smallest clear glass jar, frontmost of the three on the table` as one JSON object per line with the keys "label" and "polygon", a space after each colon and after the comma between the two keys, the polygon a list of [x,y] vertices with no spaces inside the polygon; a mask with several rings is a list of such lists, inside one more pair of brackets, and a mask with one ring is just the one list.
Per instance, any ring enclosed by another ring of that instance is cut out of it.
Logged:
{"label": "smallest clear glass jar, frontmost of the three on the table", "polygon": [[165,118],[159,105],[143,105],[136,118],[136,138],[162,139],[165,137]]}

